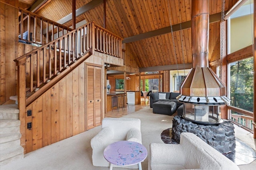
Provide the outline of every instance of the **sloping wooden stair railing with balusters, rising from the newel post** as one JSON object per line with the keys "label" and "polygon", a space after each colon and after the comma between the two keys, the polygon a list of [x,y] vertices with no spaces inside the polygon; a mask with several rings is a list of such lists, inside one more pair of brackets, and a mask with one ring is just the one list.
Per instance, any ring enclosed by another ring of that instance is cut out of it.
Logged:
{"label": "sloping wooden stair railing with balusters, rising from the newel post", "polygon": [[18,72],[18,75],[22,76],[21,79],[25,78],[22,80],[24,84],[19,84],[19,88],[25,86],[26,92],[33,92],[92,49],[92,27],[94,27],[93,22],[82,25],[15,59],[16,65],[24,66],[25,70]]}

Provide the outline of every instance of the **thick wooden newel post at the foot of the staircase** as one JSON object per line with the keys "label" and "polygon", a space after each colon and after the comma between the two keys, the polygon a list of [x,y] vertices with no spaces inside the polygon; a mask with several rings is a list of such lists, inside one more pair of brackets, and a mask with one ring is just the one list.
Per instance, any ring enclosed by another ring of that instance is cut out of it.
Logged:
{"label": "thick wooden newel post at the foot of the staircase", "polygon": [[16,61],[18,66],[18,109],[20,110],[20,145],[24,148],[24,153],[26,153],[26,70],[25,70],[26,57],[20,61]]}

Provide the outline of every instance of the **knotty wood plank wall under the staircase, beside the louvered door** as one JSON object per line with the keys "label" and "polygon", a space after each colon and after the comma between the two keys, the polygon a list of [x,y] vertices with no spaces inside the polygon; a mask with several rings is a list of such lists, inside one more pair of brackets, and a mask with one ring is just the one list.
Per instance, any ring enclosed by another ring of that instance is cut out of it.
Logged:
{"label": "knotty wood plank wall under the staircase, beside the louvered door", "polygon": [[[102,63],[101,57],[90,56],[27,107],[27,111],[32,111],[32,116],[26,115],[25,121],[26,125],[32,122],[32,128],[26,127],[25,153],[88,130],[85,111],[88,93],[86,92],[85,68],[87,64],[100,65]],[[103,70],[101,74],[103,77]],[[102,96],[102,117],[103,108],[104,97]]]}

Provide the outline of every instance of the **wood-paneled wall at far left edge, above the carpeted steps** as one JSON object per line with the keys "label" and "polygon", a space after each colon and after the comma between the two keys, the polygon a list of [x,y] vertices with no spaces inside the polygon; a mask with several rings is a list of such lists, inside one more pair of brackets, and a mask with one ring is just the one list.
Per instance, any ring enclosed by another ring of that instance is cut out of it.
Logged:
{"label": "wood-paneled wall at far left edge, above the carpeted steps", "polygon": [[[10,4],[10,5],[9,5]],[[0,0],[0,105],[16,95],[18,0]]]}

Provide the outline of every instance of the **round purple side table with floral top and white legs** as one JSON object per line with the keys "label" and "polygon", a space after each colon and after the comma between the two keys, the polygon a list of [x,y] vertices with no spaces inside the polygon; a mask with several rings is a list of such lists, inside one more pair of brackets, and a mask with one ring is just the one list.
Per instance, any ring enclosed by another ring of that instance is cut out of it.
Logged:
{"label": "round purple side table with floral top and white legs", "polygon": [[138,164],[139,170],[142,170],[141,162],[146,159],[148,151],[140,143],[132,141],[118,141],[108,145],[103,154],[104,158],[110,162],[110,170],[112,170],[113,164],[120,166]]}

